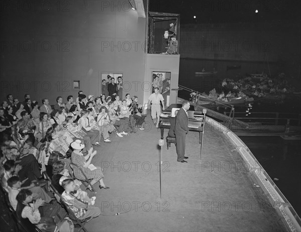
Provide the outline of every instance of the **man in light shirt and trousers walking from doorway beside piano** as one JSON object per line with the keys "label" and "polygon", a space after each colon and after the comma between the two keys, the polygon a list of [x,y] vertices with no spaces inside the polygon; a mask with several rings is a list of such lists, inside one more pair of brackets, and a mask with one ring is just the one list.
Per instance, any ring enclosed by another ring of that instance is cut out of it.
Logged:
{"label": "man in light shirt and trousers walking from doorway beside piano", "polygon": [[157,125],[157,127],[159,127],[159,120],[160,120],[160,115],[161,115],[160,101],[162,102],[163,110],[165,110],[164,98],[163,98],[162,94],[159,93],[158,87],[156,87],[154,90],[155,90],[155,93],[150,94],[150,96],[148,98],[147,109],[150,108],[150,103],[152,103],[152,108],[150,109],[151,113],[152,113],[152,119],[154,121],[154,124]]}

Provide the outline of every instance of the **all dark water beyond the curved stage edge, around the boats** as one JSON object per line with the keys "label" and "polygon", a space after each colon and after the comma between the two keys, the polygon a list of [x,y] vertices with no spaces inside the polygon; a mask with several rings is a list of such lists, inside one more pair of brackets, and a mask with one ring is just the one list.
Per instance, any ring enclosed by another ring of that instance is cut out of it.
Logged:
{"label": "all dark water beyond the curved stage edge, around the boats", "polygon": [[[226,71],[226,67],[231,65],[241,65],[241,69]],[[215,68],[218,73],[211,76],[196,77],[195,72],[201,72],[203,68],[206,72],[212,72]],[[276,75],[279,72],[279,67],[270,65],[270,70]],[[209,94],[209,91],[213,88],[217,92],[221,92],[221,82],[225,78],[238,80],[245,73],[261,73],[262,71],[263,64],[261,63],[180,59],[179,84]],[[182,90],[179,91],[178,97],[188,100],[190,98],[189,94],[189,92]],[[285,99],[277,101],[255,101],[251,103],[251,108],[248,104],[235,106],[235,117],[244,117],[243,121],[251,122],[254,120],[249,120],[250,117],[272,117],[267,113],[278,112],[279,118],[283,118],[283,120],[278,120],[278,123],[284,125],[287,121],[286,118],[296,118],[301,113],[300,103],[300,96],[293,94],[286,95]],[[225,107],[211,109],[220,113],[230,111],[229,108]],[[239,114],[238,112],[242,113]],[[256,112],[266,112],[266,114],[256,114]],[[269,120],[267,123],[272,124],[274,121]],[[290,120],[290,125],[297,125],[297,120]],[[278,136],[241,136],[240,138],[249,147],[296,212],[301,215],[301,141],[284,140]]]}

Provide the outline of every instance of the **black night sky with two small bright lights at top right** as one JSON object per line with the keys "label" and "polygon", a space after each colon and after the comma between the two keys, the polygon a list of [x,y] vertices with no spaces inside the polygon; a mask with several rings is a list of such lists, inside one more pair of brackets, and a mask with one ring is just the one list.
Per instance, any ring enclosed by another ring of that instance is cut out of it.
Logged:
{"label": "black night sky with two small bright lights at top right", "polygon": [[[282,20],[300,24],[300,2],[300,0],[149,0],[149,10],[181,14],[181,24]],[[257,14],[255,10],[258,10]],[[196,19],[193,16],[196,16]]]}

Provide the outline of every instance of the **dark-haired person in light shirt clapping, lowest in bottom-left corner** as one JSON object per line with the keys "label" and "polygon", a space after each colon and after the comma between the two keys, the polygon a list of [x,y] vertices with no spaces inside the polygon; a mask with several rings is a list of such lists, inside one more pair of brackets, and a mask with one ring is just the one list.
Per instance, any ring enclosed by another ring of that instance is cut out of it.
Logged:
{"label": "dark-haired person in light shirt clapping, lowest in bottom-left corner", "polygon": [[29,231],[36,231],[35,225],[41,231],[55,231],[56,223],[52,217],[42,217],[39,207],[43,206],[45,201],[41,198],[33,200],[32,192],[28,189],[22,189],[17,195],[17,216],[24,222]]}

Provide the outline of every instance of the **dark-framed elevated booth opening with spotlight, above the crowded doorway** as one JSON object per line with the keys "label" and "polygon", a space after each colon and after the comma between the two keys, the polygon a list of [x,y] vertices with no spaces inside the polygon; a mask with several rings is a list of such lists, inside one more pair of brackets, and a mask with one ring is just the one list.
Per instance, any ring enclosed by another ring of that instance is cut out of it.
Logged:
{"label": "dark-framed elevated booth opening with spotlight, above the crowded doorway", "polygon": [[180,15],[148,13],[148,48],[151,54],[179,54]]}

